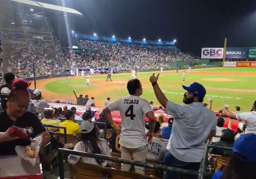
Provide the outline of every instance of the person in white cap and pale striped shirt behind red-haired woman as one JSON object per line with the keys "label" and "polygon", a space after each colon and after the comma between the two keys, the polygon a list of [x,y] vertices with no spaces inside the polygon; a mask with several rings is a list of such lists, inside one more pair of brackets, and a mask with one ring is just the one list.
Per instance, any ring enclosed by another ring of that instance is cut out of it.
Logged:
{"label": "person in white cap and pale striped shirt behind red-haired woman", "polygon": [[41,114],[41,117],[39,119],[44,118],[44,111],[45,108],[50,107],[49,103],[46,102],[44,99],[42,99],[42,91],[41,90],[34,90],[33,92],[34,99],[32,102],[34,103],[36,110],[39,114]]}

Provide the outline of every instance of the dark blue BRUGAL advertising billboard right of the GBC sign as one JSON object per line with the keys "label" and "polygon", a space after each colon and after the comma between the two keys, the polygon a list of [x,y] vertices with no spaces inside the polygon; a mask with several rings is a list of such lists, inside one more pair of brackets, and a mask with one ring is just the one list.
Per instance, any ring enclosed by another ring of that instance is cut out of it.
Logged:
{"label": "dark blue BRUGAL advertising billboard right of the GBC sign", "polygon": [[248,47],[227,47],[226,58],[247,58]]}

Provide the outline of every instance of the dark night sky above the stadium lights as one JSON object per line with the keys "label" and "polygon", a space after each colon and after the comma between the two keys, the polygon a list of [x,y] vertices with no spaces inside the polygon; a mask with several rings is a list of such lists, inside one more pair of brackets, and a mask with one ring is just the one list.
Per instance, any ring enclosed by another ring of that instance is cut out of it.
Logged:
{"label": "dark night sky above the stadium lights", "polygon": [[75,32],[172,41],[183,52],[256,46],[256,0],[72,0]]}

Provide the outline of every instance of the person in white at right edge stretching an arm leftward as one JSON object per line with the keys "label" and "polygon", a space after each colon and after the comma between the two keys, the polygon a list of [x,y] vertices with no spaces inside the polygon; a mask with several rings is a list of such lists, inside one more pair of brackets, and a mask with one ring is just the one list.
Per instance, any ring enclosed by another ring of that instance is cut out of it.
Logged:
{"label": "person in white at right edge stretching an arm leftward", "polygon": [[256,134],[256,100],[253,103],[251,112],[232,113],[226,106],[223,106],[222,110],[228,117],[239,121],[244,121],[246,124],[245,133]]}

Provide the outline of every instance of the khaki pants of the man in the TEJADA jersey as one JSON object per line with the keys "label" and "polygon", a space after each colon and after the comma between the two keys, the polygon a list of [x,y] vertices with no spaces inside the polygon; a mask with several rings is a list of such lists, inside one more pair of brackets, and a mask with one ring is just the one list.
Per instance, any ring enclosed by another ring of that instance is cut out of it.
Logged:
{"label": "khaki pants of the man in the TEJADA jersey", "polygon": [[[141,161],[141,162],[146,162],[147,158],[147,146],[143,146],[137,149],[130,149],[121,146],[121,156],[124,159],[129,159],[129,160],[135,160],[135,161]],[[121,170],[124,171],[130,171],[131,165],[129,164],[124,164],[121,163]],[[141,173],[144,174],[144,167],[139,167],[139,166],[134,166],[135,172],[136,173]]]}

